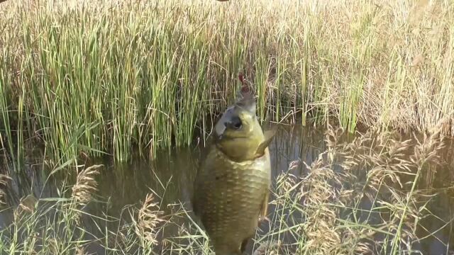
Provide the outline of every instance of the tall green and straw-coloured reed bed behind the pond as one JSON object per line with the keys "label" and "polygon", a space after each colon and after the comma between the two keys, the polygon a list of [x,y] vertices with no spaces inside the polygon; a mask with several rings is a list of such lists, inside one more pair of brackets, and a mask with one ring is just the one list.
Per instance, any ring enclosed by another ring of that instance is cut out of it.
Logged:
{"label": "tall green and straw-coloured reed bed behind the pond", "polygon": [[257,87],[262,120],[427,130],[454,115],[453,11],[409,0],[8,1],[1,138],[45,142],[63,162],[189,145],[211,133],[238,72]]}

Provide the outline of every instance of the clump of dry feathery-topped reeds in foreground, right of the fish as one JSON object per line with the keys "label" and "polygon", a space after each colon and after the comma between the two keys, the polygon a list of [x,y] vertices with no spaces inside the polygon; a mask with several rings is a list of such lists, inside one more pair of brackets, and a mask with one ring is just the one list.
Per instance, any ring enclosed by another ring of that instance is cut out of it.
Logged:
{"label": "clump of dry feathery-topped reeds in foreground, right of the fish", "polygon": [[[439,123],[437,127],[443,125]],[[415,135],[414,140],[404,140],[398,132],[377,134],[370,130],[344,142],[344,130],[329,127],[325,139],[328,149],[310,166],[306,165],[309,174],[286,173],[277,179],[272,204],[278,215],[289,218],[284,229],[298,241],[297,245],[288,244],[292,246],[291,253],[409,251],[417,241],[419,220],[431,216],[425,210],[431,197],[416,187],[423,172],[428,171],[428,163],[438,162],[443,149],[441,129],[435,128],[422,138]],[[289,169],[294,167],[292,162]],[[281,220],[274,218],[272,225],[276,230],[265,239],[275,238],[276,232],[284,236]]]}

